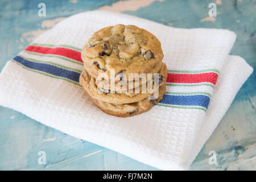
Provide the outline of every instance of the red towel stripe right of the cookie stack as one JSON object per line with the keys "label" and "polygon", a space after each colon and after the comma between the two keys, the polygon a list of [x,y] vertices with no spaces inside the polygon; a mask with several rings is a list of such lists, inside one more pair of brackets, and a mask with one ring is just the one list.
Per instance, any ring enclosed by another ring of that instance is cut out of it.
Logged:
{"label": "red towel stripe right of the cookie stack", "polygon": [[168,73],[167,82],[179,84],[195,84],[200,82],[210,82],[213,85],[215,85],[217,78],[218,74],[214,72],[196,74]]}

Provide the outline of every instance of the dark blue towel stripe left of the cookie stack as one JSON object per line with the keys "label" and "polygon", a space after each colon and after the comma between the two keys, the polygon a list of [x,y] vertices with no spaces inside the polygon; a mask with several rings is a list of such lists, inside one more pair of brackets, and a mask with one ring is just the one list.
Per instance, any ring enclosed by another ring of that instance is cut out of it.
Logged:
{"label": "dark blue towel stripe left of the cookie stack", "polygon": [[35,70],[38,70],[41,72],[49,73],[54,76],[68,78],[69,80],[79,82],[80,73],[73,72],[73,71],[63,69],[60,67],[56,67],[54,65],[50,65],[50,64],[46,64],[46,63],[36,63],[33,61],[28,61],[20,56],[15,56],[13,60],[24,65],[24,67],[27,67],[30,69],[35,69]]}

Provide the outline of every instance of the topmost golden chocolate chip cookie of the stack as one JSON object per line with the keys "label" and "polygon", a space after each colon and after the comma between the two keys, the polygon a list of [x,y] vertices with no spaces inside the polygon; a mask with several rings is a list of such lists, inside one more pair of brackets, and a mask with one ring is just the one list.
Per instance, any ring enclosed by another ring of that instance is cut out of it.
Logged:
{"label": "topmost golden chocolate chip cookie of the stack", "polygon": [[162,61],[163,51],[159,40],[150,32],[117,24],[95,32],[82,49],[81,57],[87,65],[86,71],[93,77],[99,73],[110,75],[112,70],[115,74],[126,74],[127,80],[134,80],[128,74],[150,73]]}

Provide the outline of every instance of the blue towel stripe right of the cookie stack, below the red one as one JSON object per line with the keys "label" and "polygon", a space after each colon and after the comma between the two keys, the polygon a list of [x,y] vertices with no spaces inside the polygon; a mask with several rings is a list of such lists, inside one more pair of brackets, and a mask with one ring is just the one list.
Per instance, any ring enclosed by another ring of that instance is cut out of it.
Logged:
{"label": "blue towel stripe right of the cookie stack, below the red one", "polygon": [[202,106],[208,108],[210,98],[204,95],[177,96],[164,94],[163,100],[159,103],[179,106]]}

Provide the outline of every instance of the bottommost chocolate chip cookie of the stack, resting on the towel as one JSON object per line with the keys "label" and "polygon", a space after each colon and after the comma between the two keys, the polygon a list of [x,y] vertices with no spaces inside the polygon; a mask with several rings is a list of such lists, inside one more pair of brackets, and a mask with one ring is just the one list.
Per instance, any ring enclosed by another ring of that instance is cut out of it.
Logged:
{"label": "bottommost chocolate chip cookie of the stack, resting on the towel", "polygon": [[150,110],[156,103],[163,99],[166,92],[166,85],[159,88],[159,97],[156,100],[149,100],[148,97],[141,101],[130,104],[111,104],[108,102],[98,101],[92,98],[94,104],[105,113],[118,117],[130,117]]}

